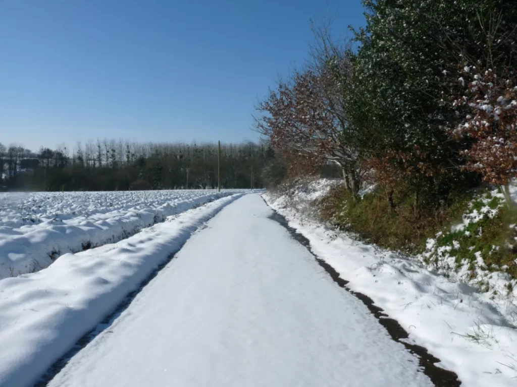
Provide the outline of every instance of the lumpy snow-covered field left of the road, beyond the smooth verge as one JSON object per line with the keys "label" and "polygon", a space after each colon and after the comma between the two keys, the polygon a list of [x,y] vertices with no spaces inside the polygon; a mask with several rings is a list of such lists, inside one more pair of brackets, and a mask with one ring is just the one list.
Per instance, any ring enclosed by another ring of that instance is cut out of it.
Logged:
{"label": "lumpy snow-covered field left of the road, beyond the smooth verge", "polygon": [[[244,190],[240,190],[244,191]],[[0,279],[121,239],[239,190],[0,193]]]}

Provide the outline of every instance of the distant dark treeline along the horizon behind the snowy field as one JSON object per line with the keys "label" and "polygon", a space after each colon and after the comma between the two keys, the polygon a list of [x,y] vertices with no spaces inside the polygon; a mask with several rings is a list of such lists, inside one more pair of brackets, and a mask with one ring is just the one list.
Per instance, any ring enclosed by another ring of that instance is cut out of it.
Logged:
{"label": "distant dark treeline along the horizon behind the snowy field", "polygon": [[[261,188],[275,157],[266,143],[221,143],[221,188]],[[218,144],[97,140],[73,151],[0,143],[4,190],[127,190],[217,188]]]}

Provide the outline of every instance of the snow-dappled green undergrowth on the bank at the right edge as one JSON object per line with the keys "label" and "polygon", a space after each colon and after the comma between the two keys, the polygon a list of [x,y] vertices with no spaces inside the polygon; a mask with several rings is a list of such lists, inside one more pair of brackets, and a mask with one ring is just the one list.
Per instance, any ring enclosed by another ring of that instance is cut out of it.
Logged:
{"label": "snow-dappled green undergrowth on the bank at the right edge", "polygon": [[515,213],[504,205],[499,189],[482,193],[469,203],[462,221],[429,238],[418,257],[428,267],[477,285],[480,291],[511,292],[517,278],[513,220]]}

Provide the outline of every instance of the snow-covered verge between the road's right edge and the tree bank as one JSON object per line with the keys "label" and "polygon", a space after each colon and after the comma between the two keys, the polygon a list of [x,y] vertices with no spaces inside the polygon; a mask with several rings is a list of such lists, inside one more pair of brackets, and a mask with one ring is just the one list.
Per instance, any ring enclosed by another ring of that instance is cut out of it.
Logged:
{"label": "snow-covered verge between the road's right edge and the tree bank", "polygon": [[[320,183],[321,189],[328,184]],[[316,184],[313,187],[317,190]],[[417,260],[363,244],[314,220],[307,192],[287,197],[263,195],[290,226],[311,243],[313,252],[373,299],[421,345],[458,374],[464,386],[515,386],[517,305],[491,300],[472,286],[440,276]],[[310,197],[318,196],[311,192]]]}

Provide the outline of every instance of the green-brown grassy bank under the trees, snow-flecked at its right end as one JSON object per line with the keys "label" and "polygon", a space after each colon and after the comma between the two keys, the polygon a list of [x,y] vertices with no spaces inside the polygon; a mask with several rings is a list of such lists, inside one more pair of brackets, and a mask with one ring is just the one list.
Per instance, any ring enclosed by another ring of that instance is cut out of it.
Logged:
{"label": "green-brown grassy bank under the trees, snow-flecked at its right end", "polygon": [[[414,197],[400,190],[393,195],[394,211],[380,190],[358,199],[343,187],[336,187],[318,202],[318,208],[323,221],[354,232],[369,243],[419,254],[429,252],[425,250],[426,241],[434,238],[436,244],[427,258],[428,264],[438,265],[445,257],[452,257],[457,268],[467,264],[470,279],[477,277],[478,269],[504,271],[517,279],[517,207],[508,207],[488,188],[456,193],[451,198],[447,206],[416,208]],[[489,216],[493,211],[487,213],[487,207],[496,212],[495,216]],[[451,231],[452,225],[463,223],[464,216],[470,216],[472,221]],[[441,254],[437,252],[439,248]]]}

